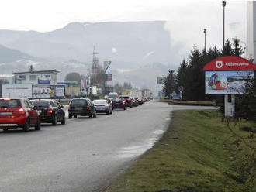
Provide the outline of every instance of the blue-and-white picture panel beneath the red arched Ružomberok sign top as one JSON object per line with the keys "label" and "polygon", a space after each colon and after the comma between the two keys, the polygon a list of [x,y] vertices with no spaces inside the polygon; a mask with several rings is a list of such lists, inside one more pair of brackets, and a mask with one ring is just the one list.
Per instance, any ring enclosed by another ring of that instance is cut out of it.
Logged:
{"label": "blue-and-white picture panel beneath the red arched Ru\u017eomberok sign top", "polygon": [[206,71],[206,94],[244,94],[254,70]]}

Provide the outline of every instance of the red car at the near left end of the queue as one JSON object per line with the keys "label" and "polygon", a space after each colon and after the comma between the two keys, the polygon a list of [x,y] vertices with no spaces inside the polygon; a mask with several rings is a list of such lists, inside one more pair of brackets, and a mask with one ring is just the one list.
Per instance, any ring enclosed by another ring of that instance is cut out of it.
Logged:
{"label": "red car at the near left end of the queue", "polygon": [[39,112],[27,98],[0,98],[0,129],[22,128],[28,132],[34,126],[40,130]]}

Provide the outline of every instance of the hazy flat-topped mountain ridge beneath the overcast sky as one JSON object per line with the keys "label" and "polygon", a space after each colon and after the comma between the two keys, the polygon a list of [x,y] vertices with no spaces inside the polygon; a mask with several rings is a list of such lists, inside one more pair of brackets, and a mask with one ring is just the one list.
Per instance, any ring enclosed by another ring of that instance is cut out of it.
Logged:
{"label": "hazy flat-topped mountain ridge beneath the overcast sky", "polygon": [[175,62],[164,21],[73,22],[47,33],[0,30],[0,44],[50,61],[91,63],[93,46],[99,60],[119,68]]}

